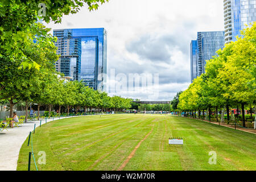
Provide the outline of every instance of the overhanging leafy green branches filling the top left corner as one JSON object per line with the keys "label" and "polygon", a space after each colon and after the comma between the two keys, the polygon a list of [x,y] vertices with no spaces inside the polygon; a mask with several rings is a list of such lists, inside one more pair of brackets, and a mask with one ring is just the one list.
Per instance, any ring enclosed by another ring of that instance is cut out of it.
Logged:
{"label": "overhanging leafy green branches filling the top left corner", "polygon": [[[47,23],[52,20],[60,23],[63,15],[75,14],[84,4],[88,9],[97,10],[99,3],[108,2],[108,0],[51,0],[43,1],[46,5],[45,11],[42,1],[27,0],[14,1],[2,0],[0,2],[0,58],[6,60],[6,65],[15,60],[25,61],[30,67],[38,67],[35,60],[24,53],[27,44],[33,42],[35,35],[31,32],[32,25],[40,18]],[[43,12],[42,12],[43,10]],[[1,71],[1,69],[0,69]],[[0,75],[2,72],[0,73]]]}

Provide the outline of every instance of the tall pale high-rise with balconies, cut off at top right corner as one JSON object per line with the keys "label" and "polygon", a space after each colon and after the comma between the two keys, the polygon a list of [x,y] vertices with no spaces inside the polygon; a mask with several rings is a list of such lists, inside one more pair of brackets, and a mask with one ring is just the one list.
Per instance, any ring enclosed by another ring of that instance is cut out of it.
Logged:
{"label": "tall pale high-rise with balconies, cut off at top right corner", "polygon": [[240,31],[255,21],[255,0],[224,0],[225,43],[236,41]]}

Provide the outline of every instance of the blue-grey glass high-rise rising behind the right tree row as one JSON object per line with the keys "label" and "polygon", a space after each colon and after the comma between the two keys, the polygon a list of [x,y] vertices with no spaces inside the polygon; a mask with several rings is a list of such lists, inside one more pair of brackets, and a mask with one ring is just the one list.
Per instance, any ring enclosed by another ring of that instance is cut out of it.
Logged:
{"label": "blue-grey glass high-rise rising behind the right tree row", "polygon": [[191,82],[205,73],[207,60],[224,47],[224,31],[197,32],[197,40],[191,42]]}

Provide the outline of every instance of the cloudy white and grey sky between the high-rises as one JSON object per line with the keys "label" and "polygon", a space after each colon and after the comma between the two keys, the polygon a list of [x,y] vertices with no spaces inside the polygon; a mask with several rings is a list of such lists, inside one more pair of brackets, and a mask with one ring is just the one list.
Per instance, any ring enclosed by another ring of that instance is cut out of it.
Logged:
{"label": "cloudy white and grey sky between the high-rises", "polygon": [[[101,28],[108,31],[108,75],[159,74],[159,85],[110,95],[141,100],[172,100],[190,83],[189,45],[198,31],[224,30],[223,0],[110,0],[97,11],[83,7],[47,27]],[[109,80],[108,85],[117,84]],[[156,82],[155,82],[156,83]],[[127,88],[129,89],[129,88]],[[143,92],[150,90],[151,92]],[[158,94],[155,94],[155,93]]]}

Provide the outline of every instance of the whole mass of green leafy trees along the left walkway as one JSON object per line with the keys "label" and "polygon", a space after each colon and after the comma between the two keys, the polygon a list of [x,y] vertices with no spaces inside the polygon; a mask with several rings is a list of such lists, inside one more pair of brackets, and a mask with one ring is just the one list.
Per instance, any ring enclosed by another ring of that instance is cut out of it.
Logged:
{"label": "whole mass of green leafy trees along the left walkway", "polygon": [[[130,99],[118,96],[109,97],[81,82],[61,80],[55,71],[56,55],[54,42],[49,29],[40,23],[39,18],[49,22],[61,22],[62,16],[77,13],[86,4],[89,10],[97,10],[99,3],[108,0],[56,0],[43,1],[46,14],[38,16],[40,1],[0,2],[0,102],[9,102],[10,117],[14,105],[25,102],[26,118],[28,105],[48,105],[49,111],[55,105],[76,111],[82,107],[120,110],[130,108]],[[39,115],[39,114],[38,114]]]}

